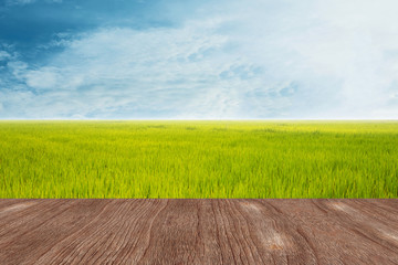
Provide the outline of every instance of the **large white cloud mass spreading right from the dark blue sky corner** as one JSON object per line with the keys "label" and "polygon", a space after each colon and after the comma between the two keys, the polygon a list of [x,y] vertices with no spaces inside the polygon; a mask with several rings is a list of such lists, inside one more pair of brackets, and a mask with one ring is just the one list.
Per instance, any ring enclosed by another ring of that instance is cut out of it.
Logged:
{"label": "large white cloud mass spreading right from the dark blue sky corner", "polygon": [[234,1],[179,28],[60,36],[45,65],[8,65],[41,116],[396,118],[397,8]]}

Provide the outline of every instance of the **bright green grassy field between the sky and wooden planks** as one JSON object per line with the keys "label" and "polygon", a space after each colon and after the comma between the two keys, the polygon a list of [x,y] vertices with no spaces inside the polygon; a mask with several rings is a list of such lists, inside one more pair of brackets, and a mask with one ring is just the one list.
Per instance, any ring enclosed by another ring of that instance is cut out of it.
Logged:
{"label": "bright green grassy field between the sky and wooden planks", "polygon": [[0,121],[0,198],[398,198],[398,121]]}

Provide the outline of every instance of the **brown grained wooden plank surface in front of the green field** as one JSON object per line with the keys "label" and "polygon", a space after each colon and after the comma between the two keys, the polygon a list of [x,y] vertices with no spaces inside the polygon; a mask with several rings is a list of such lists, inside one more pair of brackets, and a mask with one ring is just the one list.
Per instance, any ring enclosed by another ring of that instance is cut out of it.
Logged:
{"label": "brown grained wooden plank surface in front of the green field", "polygon": [[0,200],[0,264],[398,264],[398,200]]}

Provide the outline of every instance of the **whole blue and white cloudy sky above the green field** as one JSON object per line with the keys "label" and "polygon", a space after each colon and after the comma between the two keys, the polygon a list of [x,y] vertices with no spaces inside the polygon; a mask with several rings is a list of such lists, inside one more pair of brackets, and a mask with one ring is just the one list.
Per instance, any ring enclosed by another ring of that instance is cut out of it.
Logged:
{"label": "whole blue and white cloudy sky above the green field", "polygon": [[397,119],[396,0],[0,0],[1,119]]}

